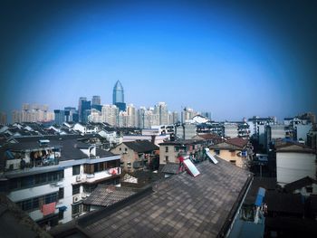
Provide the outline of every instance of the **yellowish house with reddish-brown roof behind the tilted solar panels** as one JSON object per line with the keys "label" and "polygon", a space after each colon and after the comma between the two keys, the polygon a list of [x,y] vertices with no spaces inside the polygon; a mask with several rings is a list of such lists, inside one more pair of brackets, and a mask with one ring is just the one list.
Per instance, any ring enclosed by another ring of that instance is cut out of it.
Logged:
{"label": "yellowish house with reddish-brown roof behind the tilted solar panels", "polygon": [[253,157],[253,148],[244,138],[230,138],[210,146],[210,153],[231,162],[237,167],[248,168]]}

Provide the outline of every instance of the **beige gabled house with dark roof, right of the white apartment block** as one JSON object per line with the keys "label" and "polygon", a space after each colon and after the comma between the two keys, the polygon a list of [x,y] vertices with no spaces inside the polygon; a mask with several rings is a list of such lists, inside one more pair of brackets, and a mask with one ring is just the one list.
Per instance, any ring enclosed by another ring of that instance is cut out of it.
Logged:
{"label": "beige gabled house with dark roof, right of the white apartment block", "polygon": [[144,169],[156,159],[159,147],[148,140],[122,142],[110,150],[120,155],[121,167],[127,172]]}

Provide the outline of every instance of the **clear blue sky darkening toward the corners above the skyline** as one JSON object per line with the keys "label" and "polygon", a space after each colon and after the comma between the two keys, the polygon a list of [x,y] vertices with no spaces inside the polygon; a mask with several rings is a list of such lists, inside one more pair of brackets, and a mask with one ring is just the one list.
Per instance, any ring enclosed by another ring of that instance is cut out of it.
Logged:
{"label": "clear blue sky darkening toward the corners above the skyline", "polygon": [[149,2],[2,1],[0,111],[111,103],[120,80],[137,107],[317,112],[317,1]]}

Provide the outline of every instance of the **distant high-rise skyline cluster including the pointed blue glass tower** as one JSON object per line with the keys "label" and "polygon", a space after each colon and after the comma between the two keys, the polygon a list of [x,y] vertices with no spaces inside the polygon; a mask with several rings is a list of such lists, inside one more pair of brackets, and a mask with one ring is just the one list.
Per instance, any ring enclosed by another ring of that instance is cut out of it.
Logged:
{"label": "distant high-rise skyline cluster including the pointed blue glass tower", "polygon": [[[194,113],[192,112],[192,109],[187,110],[187,114],[191,115]],[[168,105],[165,102],[159,102],[154,107],[139,107],[139,109],[133,104],[127,105],[124,101],[124,90],[120,81],[117,81],[113,87],[112,104],[101,104],[101,96],[92,96],[91,100],[81,97],[77,109],[65,107],[49,111],[48,106],[24,104],[22,110],[15,110],[13,113],[13,122],[52,120],[59,125],[65,121],[82,123],[92,121],[105,122],[115,127],[149,128],[177,123],[179,117],[178,111],[168,111]]]}

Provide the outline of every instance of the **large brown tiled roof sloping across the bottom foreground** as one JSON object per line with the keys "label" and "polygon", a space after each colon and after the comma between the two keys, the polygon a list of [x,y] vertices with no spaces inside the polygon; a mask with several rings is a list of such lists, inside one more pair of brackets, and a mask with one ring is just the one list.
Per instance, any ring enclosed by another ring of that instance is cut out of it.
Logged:
{"label": "large brown tiled roof sloping across the bottom foreground", "polygon": [[206,160],[197,169],[197,177],[184,172],[159,180],[149,195],[98,217],[79,218],[78,224],[91,237],[224,235],[252,176],[222,159],[216,165]]}

